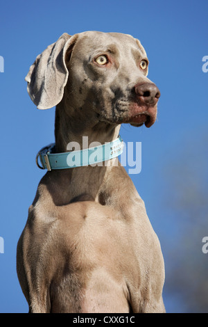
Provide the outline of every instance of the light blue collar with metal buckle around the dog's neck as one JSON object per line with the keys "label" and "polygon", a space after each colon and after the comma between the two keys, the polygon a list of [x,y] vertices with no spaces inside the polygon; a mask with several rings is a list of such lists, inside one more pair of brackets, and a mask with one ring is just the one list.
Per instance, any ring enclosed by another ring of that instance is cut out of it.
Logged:
{"label": "light blue collar with metal buckle around the dog's neck", "polygon": [[[92,166],[94,163],[118,157],[122,152],[123,140],[121,136],[103,145],[72,152],[55,153],[55,143],[51,143],[37,153],[36,163],[39,168],[49,171],[53,169]],[[38,158],[40,158],[42,166],[38,163]]]}

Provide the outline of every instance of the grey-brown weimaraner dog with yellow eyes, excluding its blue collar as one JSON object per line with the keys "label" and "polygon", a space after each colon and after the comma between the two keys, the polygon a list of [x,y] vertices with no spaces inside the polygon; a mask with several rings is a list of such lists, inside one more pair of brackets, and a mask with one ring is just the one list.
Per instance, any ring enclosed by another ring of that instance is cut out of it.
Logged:
{"label": "grey-brown weimaraner dog with yellow eyes, excluding its blue collar", "polygon": [[[55,154],[69,154],[70,142],[83,150],[83,136],[111,144],[121,123],[153,125],[160,93],[147,74],[144,47],[131,35],[64,33],[49,45],[26,81],[38,109],[56,106]],[[108,162],[46,163],[17,245],[29,312],[165,312],[159,240],[118,158]]]}

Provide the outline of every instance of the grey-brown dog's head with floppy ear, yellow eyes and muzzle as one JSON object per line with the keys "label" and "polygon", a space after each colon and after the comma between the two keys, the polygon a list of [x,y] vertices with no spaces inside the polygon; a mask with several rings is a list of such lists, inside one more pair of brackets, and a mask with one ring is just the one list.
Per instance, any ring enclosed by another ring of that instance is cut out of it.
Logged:
{"label": "grey-brown dog's head with floppy ear, yellow eyes and muzzle", "polygon": [[26,76],[38,109],[61,101],[80,115],[119,125],[150,127],[160,93],[147,78],[148,58],[139,40],[122,33],[64,33],[37,56]]}

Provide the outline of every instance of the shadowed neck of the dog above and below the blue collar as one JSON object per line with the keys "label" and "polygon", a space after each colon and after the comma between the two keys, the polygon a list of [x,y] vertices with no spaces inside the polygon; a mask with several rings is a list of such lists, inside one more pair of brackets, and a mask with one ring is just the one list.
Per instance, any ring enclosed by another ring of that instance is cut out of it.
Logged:
{"label": "shadowed neck of the dog above and below the blue collar", "polygon": [[[61,114],[60,114],[61,111]],[[75,128],[76,127],[76,128]],[[60,105],[55,111],[55,151],[67,152],[67,145],[70,142],[77,142],[80,150],[83,147],[83,136],[88,137],[88,144],[92,142],[114,141],[119,135],[120,125],[110,125],[105,122],[80,122],[76,117],[69,117],[65,108]],[[83,166],[63,170],[53,170],[53,182],[57,184],[59,192],[52,191],[53,200],[56,205],[64,205],[73,200],[97,200],[100,202],[101,189],[107,174],[113,166],[118,166],[118,158],[103,162],[96,166]],[[54,189],[54,185],[53,185]],[[61,193],[61,196],[59,196]]]}

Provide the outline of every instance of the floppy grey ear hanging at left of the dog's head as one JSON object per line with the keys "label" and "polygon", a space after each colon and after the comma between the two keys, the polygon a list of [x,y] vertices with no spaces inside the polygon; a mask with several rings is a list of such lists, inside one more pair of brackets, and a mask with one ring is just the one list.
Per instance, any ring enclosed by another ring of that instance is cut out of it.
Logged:
{"label": "floppy grey ear hanging at left of the dog's head", "polygon": [[52,108],[62,100],[69,75],[65,56],[77,38],[78,34],[62,34],[31,65],[25,80],[28,82],[28,94],[37,109]]}

